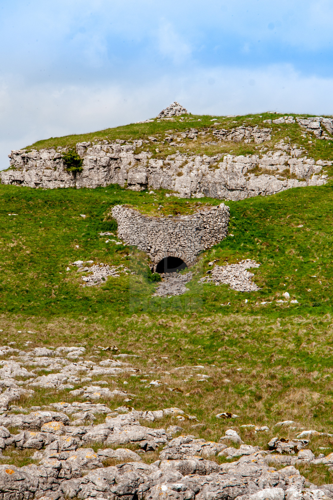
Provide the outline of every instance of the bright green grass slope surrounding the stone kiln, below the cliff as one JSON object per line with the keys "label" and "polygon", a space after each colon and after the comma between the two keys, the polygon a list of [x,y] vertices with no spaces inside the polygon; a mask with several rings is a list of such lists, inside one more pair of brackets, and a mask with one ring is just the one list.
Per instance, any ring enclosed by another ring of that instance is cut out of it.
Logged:
{"label": "bright green grass slope surrounding the stone kiln, below the cliff", "polygon": [[[149,263],[145,254],[135,247],[105,243],[98,231],[117,203],[128,203],[146,213],[153,213],[163,203],[161,212],[168,214],[193,212],[200,206],[196,200],[173,200],[165,198],[163,192],[149,195],[118,186],[34,190],[10,185],[0,186],[0,200],[1,225],[5,228],[0,239],[2,312],[69,314],[74,318],[88,314],[94,320],[100,315],[113,317],[119,312],[129,314],[140,309],[184,312],[191,308],[191,304],[186,305],[187,297],[198,297],[204,311],[227,315],[264,313],[276,317],[331,311],[331,184],[228,202],[230,232],[234,236],[200,256],[193,269],[195,277],[188,285],[190,293],[172,299],[151,299],[154,285],[144,278]],[[217,204],[220,200],[202,198],[202,202]],[[242,258],[261,262],[253,272],[262,290],[249,294],[233,291],[228,285],[198,284],[210,260],[218,259],[223,264]],[[74,266],[66,271],[70,262],[79,259],[124,264],[136,274],[111,277],[101,287],[82,288],[82,273]],[[276,302],[285,291],[299,303]],[[272,303],[263,306],[262,301]],[[229,306],[221,305],[228,302]]]}

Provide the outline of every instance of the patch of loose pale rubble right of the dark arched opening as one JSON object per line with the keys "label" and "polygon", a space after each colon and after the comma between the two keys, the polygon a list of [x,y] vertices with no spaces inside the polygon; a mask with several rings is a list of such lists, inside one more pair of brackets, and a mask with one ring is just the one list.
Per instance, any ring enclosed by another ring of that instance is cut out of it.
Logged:
{"label": "patch of loose pale rubble right of the dark arched opening", "polygon": [[241,260],[238,264],[215,265],[212,271],[208,271],[209,277],[200,278],[199,283],[230,284],[230,288],[238,291],[260,290],[261,288],[251,281],[254,274],[246,270],[249,267],[259,266],[259,263],[249,258]]}

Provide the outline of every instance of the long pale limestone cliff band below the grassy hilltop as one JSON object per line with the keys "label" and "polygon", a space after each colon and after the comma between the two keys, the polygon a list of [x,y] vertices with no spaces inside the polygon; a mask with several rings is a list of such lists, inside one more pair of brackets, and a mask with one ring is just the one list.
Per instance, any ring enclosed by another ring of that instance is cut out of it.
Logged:
{"label": "long pale limestone cliff band below the grassy hilltop", "polygon": [[151,158],[150,152],[135,153],[142,140],[81,142],[76,145],[83,158],[83,170],[68,173],[61,153],[64,148],[26,152],[11,151],[11,168],[0,172],[1,183],[29,187],[98,187],[120,184],[128,189],[170,189],[179,196],[211,196],[239,200],[269,195],[291,187],[322,185],[331,164],[302,156],[302,149],[283,141],[279,149],[265,154],[234,156],[187,155],[178,152],[165,160]]}

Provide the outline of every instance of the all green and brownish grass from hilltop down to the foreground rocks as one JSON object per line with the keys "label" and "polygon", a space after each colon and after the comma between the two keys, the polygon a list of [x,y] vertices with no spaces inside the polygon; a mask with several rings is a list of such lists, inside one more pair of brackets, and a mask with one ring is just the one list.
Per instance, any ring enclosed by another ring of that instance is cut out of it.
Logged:
{"label": "all green and brownish grass from hilltop down to the foreground rocks", "polygon": [[[253,116],[251,122],[267,117],[276,115]],[[155,120],[90,135],[47,139],[32,146],[71,145],[106,135],[128,140],[143,133],[160,133],[162,137],[162,132],[172,127],[180,131],[190,124],[196,128],[210,125],[212,117],[200,117],[202,122],[196,119],[199,117],[188,116],[184,123],[180,118],[175,122]],[[237,120],[241,124],[244,117],[219,117],[221,126],[226,127]],[[270,147],[286,133],[302,140],[296,123],[274,130]],[[188,142],[187,149],[205,152],[206,146],[201,143],[199,136],[197,142]],[[309,156],[331,158],[329,144],[313,139],[307,145]],[[159,153],[156,144],[144,147],[156,155],[175,150],[162,139]],[[207,146],[207,152],[214,152],[214,148],[258,152],[255,147],[217,144]],[[103,378],[110,386],[116,382],[124,387],[127,382],[126,390],[136,394],[130,402],[136,409],[178,406],[196,415],[199,427],[193,429],[192,420],[181,425],[186,433],[206,439],[216,440],[234,425],[246,443],[267,447],[274,435],[297,434],[273,428],[277,421],[286,419],[296,420],[307,429],[333,432],[332,182],[289,189],[270,197],[229,201],[229,232],[233,236],[203,252],[191,268],[194,277],[187,284],[190,290],[171,298],[151,296],[155,285],[147,280],[149,262],[143,252],[106,243],[107,237],[99,236],[102,222],[110,219],[110,210],[118,203],[149,214],[168,215],[192,213],[202,204],[221,202],[166,198],[165,192],[149,195],[118,185],[79,190],[0,185],[1,343],[16,342],[15,347],[23,349],[27,340],[32,342],[29,347],[84,343],[86,358],[93,356],[95,362],[112,356],[96,345],[115,344],[120,352],[135,353],[140,357],[135,358],[133,366],[144,375],[121,374],[113,381]],[[159,205],[163,208],[157,211]],[[198,283],[209,261],[215,259],[221,265],[243,258],[261,263],[251,269],[261,290],[241,293],[228,285]],[[109,277],[101,286],[82,287],[84,273],[69,265],[75,260],[123,264],[135,273]],[[298,303],[277,302],[285,291]],[[210,378],[199,382],[193,365],[202,365],[200,372]],[[177,391],[169,391],[164,384],[147,388],[141,376],[161,379]],[[31,399],[20,400],[19,404],[44,405],[59,399],[75,400],[68,390],[60,396],[55,389],[36,389]],[[105,402],[116,407],[120,400]],[[215,415],[222,411],[239,417],[232,422],[217,419]],[[167,426],[178,422],[166,418],[155,423]],[[241,425],[246,423],[268,425],[270,431],[244,430]],[[310,447],[316,454],[325,447],[328,454],[333,451],[333,440],[313,437]],[[153,461],[156,456],[145,459]],[[23,464],[29,457],[12,455],[8,460]],[[324,466],[301,469],[317,484],[332,482],[332,474]]]}

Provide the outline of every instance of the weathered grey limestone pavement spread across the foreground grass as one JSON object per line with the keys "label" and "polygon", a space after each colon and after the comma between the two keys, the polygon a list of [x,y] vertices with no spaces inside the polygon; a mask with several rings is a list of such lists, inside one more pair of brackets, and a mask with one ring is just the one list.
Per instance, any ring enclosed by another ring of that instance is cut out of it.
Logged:
{"label": "weathered grey limestone pavement spread across the foreground grass", "polygon": [[[110,347],[104,349],[109,350]],[[90,358],[73,363],[71,356],[75,352],[86,354],[86,349],[82,346],[59,346],[56,349],[35,347],[25,352],[4,345],[1,346],[1,351],[18,354],[16,360],[10,359],[1,365],[0,380],[8,385],[15,381],[23,383],[22,380],[12,378],[21,378],[22,372],[25,377],[29,376],[24,381],[28,385],[36,382],[49,383],[42,378],[45,375],[37,377],[21,367],[22,364],[58,370],[58,373],[50,375],[59,375],[54,380],[61,383],[64,381],[63,373],[80,373],[81,382],[87,382],[91,378],[86,375],[93,375],[93,372],[95,375],[111,372],[116,375],[129,369],[140,372],[138,368],[130,368],[128,363],[118,361],[118,358],[101,360],[98,365]],[[128,355],[123,353],[116,356]],[[204,368],[203,365],[188,367],[200,370]],[[177,372],[178,368],[175,368]],[[31,378],[34,382],[31,382]],[[152,380],[150,384],[159,386],[162,382]],[[305,449],[309,443],[307,439],[275,437],[268,443],[271,450],[263,450],[259,446],[245,444],[234,429],[227,429],[218,442],[198,438],[194,434],[174,437],[173,434],[183,431],[182,427],[170,425],[165,430],[157,428],[155,421],[167,416],[195,419],[194,416],[185,415],[178,407],[135,410],[129,406],[119,406],[111,409],[105,404],[81,400],[53,402],[50,408],[52,409],[29,411],[27,408],[11,406],[0,416],[0,500],[333,498],[332,484],[316,486],[295,468],[299,465],[325,465],[329,471],[333,470],[333,453],[327,456],[320,453],[316,457],[310,449]],[[105,421],[95,425],[92,423],[95,415],[105,415]],[[237,418],[237,415],[228,412],[216,416],[220,418],[222,415],[225,418]],[[154,426],[152,422],[155,422]],[[297,422],[291,420],[276,424],[277,427],[288,428],[295,425],[298,425]],[[11,427],[17,431],[11,433]],[[194,425],[192,428],[196,427]],[[255,425],[246,424],[243,427]],[[268,430],[268,427],[258,428],[264,429]],[[310,435],[321,434],[316,430],[304,432]],[[95,443],[97,451],[94,451],[91,443]],[[126,443],[135,444],[135,451],[123,448]],[[240,447],[234,447],[235,443],[240,444]],[[12,458],[10,454],[3,455],[3,450],[14,452],[15,460],[16,456],[26,457],[30,451],[32,462],[22,467],[8,464],[6,461],[12,461]],[[158,455],[155,457],[159,456],[159,459],[153,463],[145,463],[152,461],[153,455],[149,452],[156,450]],[[217,455],[233,461],[217,463]],[[115,460],[114,465],[105,466],[105,460],[109,459]]]}

